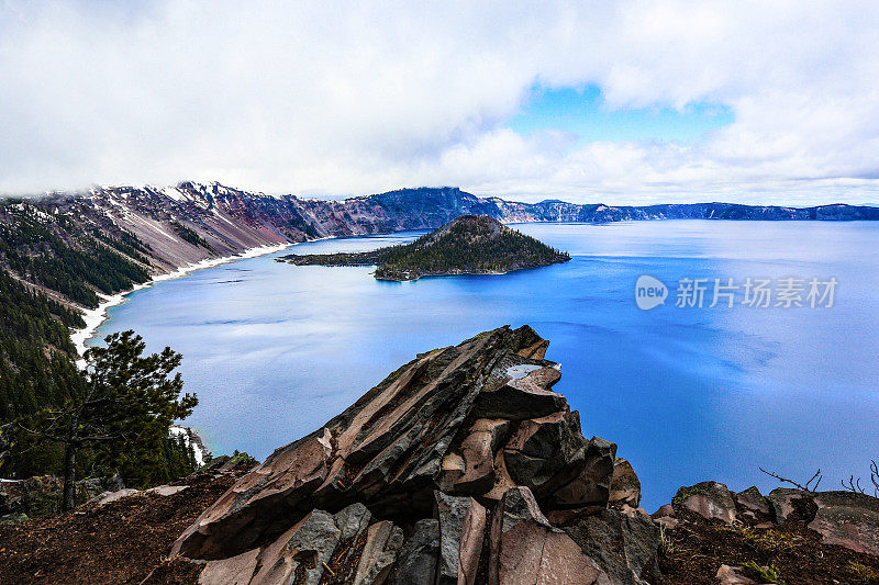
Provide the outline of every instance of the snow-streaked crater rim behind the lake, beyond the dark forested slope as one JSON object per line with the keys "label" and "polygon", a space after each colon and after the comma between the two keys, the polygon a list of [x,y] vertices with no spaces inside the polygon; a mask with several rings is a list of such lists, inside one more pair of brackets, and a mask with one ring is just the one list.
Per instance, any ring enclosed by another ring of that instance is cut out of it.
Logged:
{"label": "snow-streaked crater rim behind the lake, beyond the dark forested slope", "polygon": [[[171,188],[107,187],[85,194],[21,200],[82,227],[124,229],[170,268],[266,244],[321,237],[434,229],[460,215],[489,215],[503,223],[642,220],[853,221],[879,220],[879,207],[846,204],[814,207],[690,203],[661,205],[521,203],[480,198],[454,187],[401,189],[344,201],[270,196],[220,183],[181,182]],[[0,214],[2,223],[2,214]]]}

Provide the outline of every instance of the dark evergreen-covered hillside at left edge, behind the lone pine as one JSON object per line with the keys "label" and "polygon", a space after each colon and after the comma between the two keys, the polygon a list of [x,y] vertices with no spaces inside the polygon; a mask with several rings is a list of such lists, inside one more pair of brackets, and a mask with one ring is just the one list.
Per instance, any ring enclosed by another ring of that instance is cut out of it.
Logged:
{"label": "dark evergreen-covered hillside at left edge, behind the lone pine", "polygon": [[[76,367],[70,341],[70,330],[85,326],[79,307],[146,282],[148,256],[143,241],[118,227],[0,200],[0,477],[62,473],[65,446],[24,432],[23,421],[42,432],[41,416],[88,395],[93,374]],[[165,430],[149,441],[84,445],[73,471],[122,472],[137,486],[189,473],[191,450],[167,436],[169,425],[163,418]]]}

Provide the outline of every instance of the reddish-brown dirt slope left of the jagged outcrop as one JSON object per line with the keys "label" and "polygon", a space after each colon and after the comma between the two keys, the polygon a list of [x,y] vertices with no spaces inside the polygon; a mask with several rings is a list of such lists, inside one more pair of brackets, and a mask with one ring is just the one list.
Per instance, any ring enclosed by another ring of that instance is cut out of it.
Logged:
{"label": "reddish-brown dirt slope left of the jagged outcrop", "polygon": [[173,496],[134,494],[52,518],[0,526],[0,583],[194,583],[200,566],[168,561],[178,536],[244,470],[190,476]]}

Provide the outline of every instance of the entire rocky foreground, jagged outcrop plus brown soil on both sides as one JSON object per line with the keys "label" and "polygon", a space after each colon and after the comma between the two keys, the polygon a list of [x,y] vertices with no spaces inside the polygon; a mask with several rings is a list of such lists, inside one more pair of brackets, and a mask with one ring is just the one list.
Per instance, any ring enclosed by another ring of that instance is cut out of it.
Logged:
{"label": "entire rocky foreground, jagged outcrop plus brown soil on both sides", "polygon": [[488,331],[252,469],[0,526],[0,582],[879,582],[868,495],[704,482],[647,515],[635,470],[553,392],[546,348],[528,327]]}

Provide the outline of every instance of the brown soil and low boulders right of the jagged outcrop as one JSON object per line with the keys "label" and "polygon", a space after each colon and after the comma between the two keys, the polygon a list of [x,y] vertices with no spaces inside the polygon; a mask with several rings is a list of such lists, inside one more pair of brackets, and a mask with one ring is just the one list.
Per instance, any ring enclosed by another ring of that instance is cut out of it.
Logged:
{"label": "brown soil and low boulders right of the jagged outcrop", "polygon": [[[879,583],[879,499],[703,482],[653,515],[665,583]],[[750,569],[748,569],[748,565]],[[714,578],[712,578],[714,577]]]}

